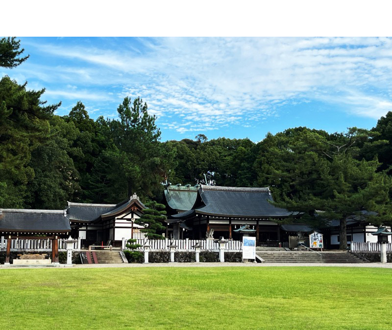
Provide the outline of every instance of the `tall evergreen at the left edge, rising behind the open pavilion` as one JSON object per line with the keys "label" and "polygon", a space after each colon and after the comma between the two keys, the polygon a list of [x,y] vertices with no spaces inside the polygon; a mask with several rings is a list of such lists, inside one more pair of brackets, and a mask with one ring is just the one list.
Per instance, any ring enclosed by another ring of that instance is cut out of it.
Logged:
{"label": "tall evergreen at the left edge, rising behind the open pavilion", "polygon": [[23,207],[26,184],[34,178],[31,152],[49,134],[48,119],[61,104],[46,106],[44,91],[26,90],[7,76],[0,80],[0,182],[7,187],[2,207]]}

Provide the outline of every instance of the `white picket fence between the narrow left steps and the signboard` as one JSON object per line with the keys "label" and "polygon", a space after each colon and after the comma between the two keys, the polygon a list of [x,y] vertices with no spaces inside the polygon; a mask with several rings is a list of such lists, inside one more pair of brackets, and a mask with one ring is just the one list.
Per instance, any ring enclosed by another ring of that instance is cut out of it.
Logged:
{"label": "white picket fence between the narrow left steps and the signboard", "polygon": [[[123,240],[122,249],[126,249],[125,247],[126,240]],[[176,251],[187,251],[192,252],[195,251],[194,245],[201,245],[200,250],[209,250],[209,251],[219,251],[219,243],[218,241],[212,240],[136,240],[135,244],[140,244],[142,247],[139,247],[137,250],[142,251],[143,245],[150,245],[150,251],[170,251],[170,247],[168,245],[176,245]],[[226,252],[240,252],[242,251],[242,241],[228,241],[225,243],[225,251]]]}

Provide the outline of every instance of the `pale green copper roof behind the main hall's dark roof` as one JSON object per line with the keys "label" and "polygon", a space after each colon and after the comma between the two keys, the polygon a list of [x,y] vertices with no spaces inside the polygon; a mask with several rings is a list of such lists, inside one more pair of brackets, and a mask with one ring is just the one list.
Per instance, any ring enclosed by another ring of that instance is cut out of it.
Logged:
{"label": "pale green copper roof behind the main hall's dark roof", "polygon": [[195,204],[197,197],[196,186],[171,185],[165,189],[165,198],[170,208],[176,211],[188,211]]}

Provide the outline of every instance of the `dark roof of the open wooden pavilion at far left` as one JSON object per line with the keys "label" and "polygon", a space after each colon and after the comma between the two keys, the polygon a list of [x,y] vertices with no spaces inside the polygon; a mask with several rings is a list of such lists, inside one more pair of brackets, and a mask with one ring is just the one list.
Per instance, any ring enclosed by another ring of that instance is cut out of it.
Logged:
{"label": "dark roof of the open wooden pavilion at far left", "polygon": [[66,233],[71,226],[64,210],[2,209],[0,232]]}

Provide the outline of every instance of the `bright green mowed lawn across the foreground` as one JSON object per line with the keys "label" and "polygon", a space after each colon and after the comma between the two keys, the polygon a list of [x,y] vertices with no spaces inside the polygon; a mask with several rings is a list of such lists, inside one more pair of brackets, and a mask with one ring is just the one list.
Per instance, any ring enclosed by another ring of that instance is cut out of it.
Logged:
{"label": "bright green mowed lawn across the foreground", "polygon": [[392,329],[392,269],[0,269],[1,329]]}

